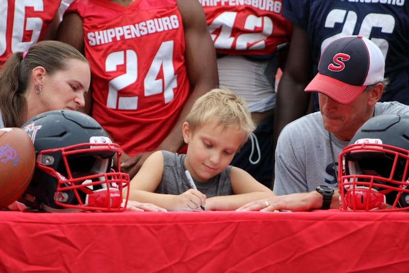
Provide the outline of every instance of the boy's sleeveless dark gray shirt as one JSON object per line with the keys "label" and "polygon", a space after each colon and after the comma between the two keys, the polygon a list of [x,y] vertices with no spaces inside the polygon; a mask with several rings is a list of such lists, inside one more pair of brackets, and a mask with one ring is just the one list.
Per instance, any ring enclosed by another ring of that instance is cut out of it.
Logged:
{"label": "boy's sleeveless dark gray shirt", "polygon": [[[186,154],[177,154],[162,151],[164,158],[164,169],[162,181],[156,188],[156,193],[179,195],[191,189],[185,171]],[[221,195],[233,195],[232,181],[230,179],[230,169],[228,166],[218,175],[205,182],[194,181],[196,188],[207,198]],[[152,170],[154,171],[154,170]]]}

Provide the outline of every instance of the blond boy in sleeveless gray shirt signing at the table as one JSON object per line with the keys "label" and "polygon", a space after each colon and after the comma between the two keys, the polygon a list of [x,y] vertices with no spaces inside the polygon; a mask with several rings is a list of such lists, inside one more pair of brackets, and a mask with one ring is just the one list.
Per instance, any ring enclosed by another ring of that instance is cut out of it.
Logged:
{"label": "blond boy in sleeveless gray shirt signing at the table", "polygon": [[[185,154],[152,153],[130,182],[130,200],[170,211],[235,210],[273,196],[246,171],[229,166],[255,126],[244,102],[227,89],[198,98],[183,124]],[[188,170],[194,184],[189,183]],[[203,207],[201,209],[201,207]]]}

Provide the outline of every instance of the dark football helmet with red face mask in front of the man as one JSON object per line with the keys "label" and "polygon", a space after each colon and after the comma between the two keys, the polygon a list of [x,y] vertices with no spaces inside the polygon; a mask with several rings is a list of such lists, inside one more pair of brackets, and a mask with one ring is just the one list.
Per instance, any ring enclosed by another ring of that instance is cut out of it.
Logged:
{"label": "dark football helmet with red face mask in front of the man", "polygon": [[371,118],[338,160],[342,210],[409,210],[409,116]]}

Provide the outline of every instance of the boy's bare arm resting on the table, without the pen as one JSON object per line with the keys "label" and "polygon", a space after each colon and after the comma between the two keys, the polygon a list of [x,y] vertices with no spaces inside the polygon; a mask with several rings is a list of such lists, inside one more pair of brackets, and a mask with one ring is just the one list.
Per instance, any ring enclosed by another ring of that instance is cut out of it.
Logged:
{"label": "boy's bare arm resting on the table, without the pen", "polygon": [[236,210],[248,202],[274,196],[270,189],[240,168],[232,167],[230,177],[234,195],[208,198],[206,200],[206,210]]}

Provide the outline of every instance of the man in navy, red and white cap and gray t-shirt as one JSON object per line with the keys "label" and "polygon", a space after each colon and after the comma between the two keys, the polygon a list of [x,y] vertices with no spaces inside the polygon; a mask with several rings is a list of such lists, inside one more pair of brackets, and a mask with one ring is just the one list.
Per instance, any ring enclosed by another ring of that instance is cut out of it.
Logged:
{"label": "man in navy, red and white cap and gray t-shirt", "polygon": [[288,124],[276,148],[274,192],[269,199],[249,203],[239,210],[338,208],[339,152],[357,129],[373,116],[409,115],[409,106],[378,102],[386,80],[380,49],[362,36],[347,36],[324,50],[319,73],[305,88],[318,92],[320,112]]}

